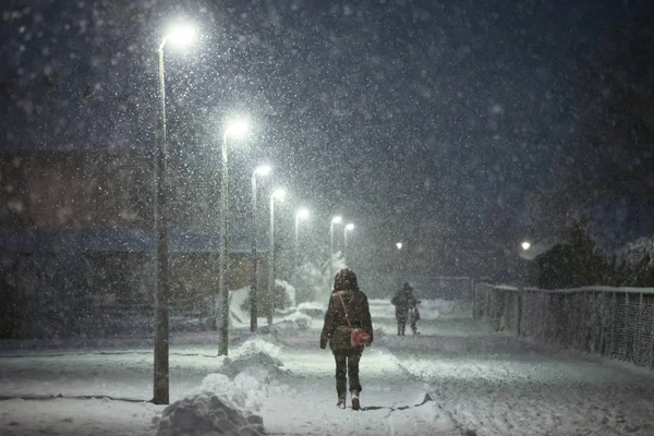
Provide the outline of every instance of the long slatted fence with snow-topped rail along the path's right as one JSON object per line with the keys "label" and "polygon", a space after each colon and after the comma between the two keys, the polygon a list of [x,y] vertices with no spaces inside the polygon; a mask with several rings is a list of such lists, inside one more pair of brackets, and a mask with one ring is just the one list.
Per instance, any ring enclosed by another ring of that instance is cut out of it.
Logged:
{"label": "long slatted fence with snow-topped rail along the path's right", "polygon": [[654,370],[652,288],[543,290],[477,282],[473,317],[498,331]]}

